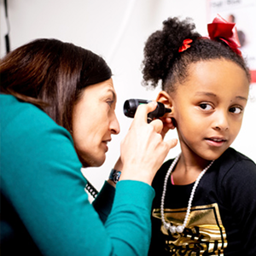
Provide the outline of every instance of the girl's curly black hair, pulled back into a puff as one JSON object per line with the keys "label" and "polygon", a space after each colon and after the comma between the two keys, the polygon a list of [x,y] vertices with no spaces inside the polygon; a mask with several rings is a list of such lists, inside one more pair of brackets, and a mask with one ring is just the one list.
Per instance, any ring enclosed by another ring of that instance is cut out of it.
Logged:
{"label": "girl's curly black hair, pulled back into a puff", "polygon": [[[191,47],[178,52],[183,40],[188,38],[193,40]],[[191,63],[214,59],[234,61],[245,71],[250,82],[244,59],[222,40],[202,38],[200,33],[195,32],[195,24],[189,18],[169,18],[163,22],[162,30],[149,36],[145,44],[143,85],[156,87],[161,82],[162,90],[171,92],[177,82],[182,83],[186,79]]]}

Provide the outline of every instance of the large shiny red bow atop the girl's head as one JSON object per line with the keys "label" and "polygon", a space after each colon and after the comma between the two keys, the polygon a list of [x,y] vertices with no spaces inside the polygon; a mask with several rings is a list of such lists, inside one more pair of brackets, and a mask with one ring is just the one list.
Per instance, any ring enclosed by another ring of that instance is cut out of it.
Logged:
{"label": "large shiny red bow atop the girl's head", "polygon": [[236,52],[237,55],[241,56],[241,51],[238,49],[241,47],[241,44],[236,30],[236,23],[228,22],[220,15],[217,15],[212,23],[208,24],[207,28],[209,37],[212,40],[223,40],[233,51]]}

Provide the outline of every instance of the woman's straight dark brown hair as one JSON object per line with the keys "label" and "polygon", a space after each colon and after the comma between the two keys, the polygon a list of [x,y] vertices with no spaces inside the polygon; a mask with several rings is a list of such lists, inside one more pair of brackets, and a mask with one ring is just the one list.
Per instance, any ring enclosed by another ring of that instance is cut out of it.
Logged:
{"label": "woman's straight dark brown hair", "polygon": [[37,39],[0,62],[1,93],[30,102],[72,131],[73,105],[86,86],[110,79],[101,56],[56,39]]}

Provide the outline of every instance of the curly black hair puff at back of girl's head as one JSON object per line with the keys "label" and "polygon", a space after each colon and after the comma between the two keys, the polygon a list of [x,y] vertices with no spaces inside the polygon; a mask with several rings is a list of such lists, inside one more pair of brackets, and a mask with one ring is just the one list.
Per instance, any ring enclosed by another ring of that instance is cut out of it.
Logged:
{"label": "curly black hair puff at back of girl's head", "polygon": [[182,46],[183,40],[200,37],[201,35],[195,32],[195,24],[191,23],[189,18],[182,21],[177,17],[165,20],[162,30],[154,32],[145,44],[143,84],[156,87],[160,80],[165,80],[172,68],[173,60],[180,55],[178,49]]}

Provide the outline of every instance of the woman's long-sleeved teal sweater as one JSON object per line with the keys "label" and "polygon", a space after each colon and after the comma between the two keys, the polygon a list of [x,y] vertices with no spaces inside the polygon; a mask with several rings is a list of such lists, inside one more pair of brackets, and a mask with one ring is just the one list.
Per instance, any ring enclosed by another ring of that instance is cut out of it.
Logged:
{"label": "woman's long-sleeved teal sweater", "polygon": [[2,255],[147,255],[154,189],[120,181],[112,201],[105,184],[109,201],[94,208],[70,134],[32,104],[0,100]]}

